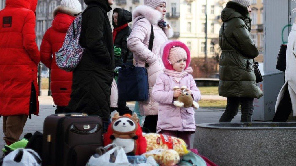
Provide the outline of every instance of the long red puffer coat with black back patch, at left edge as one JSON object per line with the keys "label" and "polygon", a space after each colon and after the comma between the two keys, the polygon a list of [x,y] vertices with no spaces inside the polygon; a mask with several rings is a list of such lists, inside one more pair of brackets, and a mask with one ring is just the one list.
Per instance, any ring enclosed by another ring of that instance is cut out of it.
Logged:
{"label": "long red puffer coat with black back patch, at left edge", "polygon": [[0,11],[0,115],[3,116],[39,112],[36,5],[37,0],[7,0]]}

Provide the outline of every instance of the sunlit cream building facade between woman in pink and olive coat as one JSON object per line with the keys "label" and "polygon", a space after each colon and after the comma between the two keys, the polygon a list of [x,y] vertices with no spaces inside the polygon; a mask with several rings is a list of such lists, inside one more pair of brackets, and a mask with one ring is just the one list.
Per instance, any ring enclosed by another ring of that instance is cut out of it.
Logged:
{"label": "sunlit cream building facade between woman in pink and olive coat", "polygon": [[[181,0],[180,37],[191,50],[192,57],[205,57],[205,23],[207,12],[207,57],[215,56],[213,40],[218,39],[221,11],[226,0]],[[207,4],[207,5],[206,5]],[[207,9],[206,9],[207,6]]]}

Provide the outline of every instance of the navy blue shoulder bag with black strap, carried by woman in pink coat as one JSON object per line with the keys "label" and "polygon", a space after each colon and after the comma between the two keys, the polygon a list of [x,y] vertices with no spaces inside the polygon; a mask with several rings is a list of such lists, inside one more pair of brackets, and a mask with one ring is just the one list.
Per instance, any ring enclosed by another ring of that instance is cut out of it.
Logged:
{"label": "navy blue shoulder bag with black strap, carried by woman in pink coat", "polygon": [[[151,25],[151,33],[148,49],[152,51],[154,31]],[[124,63],[118,70],[118,101],[146,101],[149,98],[148,64],[145,67],[136,67],[131,63]]]}

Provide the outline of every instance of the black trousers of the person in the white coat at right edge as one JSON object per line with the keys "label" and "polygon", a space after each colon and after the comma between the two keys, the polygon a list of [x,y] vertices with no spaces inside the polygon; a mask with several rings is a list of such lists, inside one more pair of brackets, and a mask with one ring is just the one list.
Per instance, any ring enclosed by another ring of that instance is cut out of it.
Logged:
{"label": "black trousers of the person in the white coat at right edge", "polygon": [[292,111],[292,102],[289,90],[284,93],[283,99],[279,102],[278,109],[274,115],[272,122],[287,122],[289,115]]}

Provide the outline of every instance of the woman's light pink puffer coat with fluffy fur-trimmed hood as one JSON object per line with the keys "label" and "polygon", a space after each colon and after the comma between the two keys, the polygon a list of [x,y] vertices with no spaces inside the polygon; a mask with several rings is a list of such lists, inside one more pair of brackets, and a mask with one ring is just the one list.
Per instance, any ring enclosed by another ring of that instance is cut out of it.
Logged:
{"label": "woman's light pink puffer coat with fluffy fur-trimmed hood", "polygon": [[[173,31],[169,25],[165,30],[157,26],[157,22],[161,19],[161,16],[159,11],[149,6],[138,6],[133,11],[133,30],[127,42],[128,49],[133,52],[135,66],[145,67],[145,62],[149,64],[149,96],[152,96],[152,88],[157,76],[164,69],[159,53],[160,48],[168,40],[168,37],[173,36]],[[155,36],[152,51],[148,49],[151,24],[153,25]],[[153,97],[149,97],[149,100],[145,102],[139,102],[139,105],[141,115],[158,114],[158,103],[155,102]]]}

